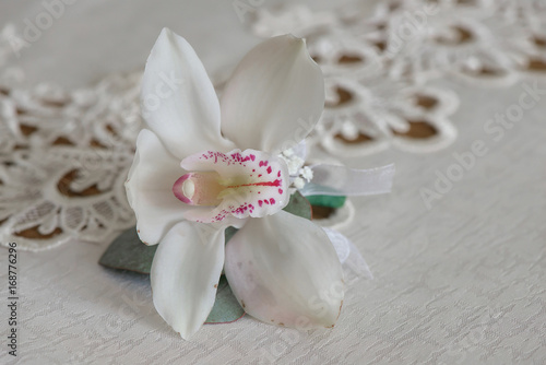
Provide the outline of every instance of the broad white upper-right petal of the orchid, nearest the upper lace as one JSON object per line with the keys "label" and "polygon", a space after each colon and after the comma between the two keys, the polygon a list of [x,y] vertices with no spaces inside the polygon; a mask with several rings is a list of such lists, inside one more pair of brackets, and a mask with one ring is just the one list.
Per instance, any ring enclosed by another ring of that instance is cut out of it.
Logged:
{"label": "broad white upper-right petal of the orchid, nearest the upper lace", "polygon": [[263,42],[240,61],[222,94],[222,131],[240,149],[281,152],[312,130],[324,81],[302,39]]}

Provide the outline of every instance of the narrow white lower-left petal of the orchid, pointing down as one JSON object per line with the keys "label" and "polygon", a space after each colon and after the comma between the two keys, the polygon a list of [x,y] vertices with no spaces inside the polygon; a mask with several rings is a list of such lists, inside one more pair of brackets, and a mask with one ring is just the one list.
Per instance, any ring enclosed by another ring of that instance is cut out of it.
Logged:
{"label": "narrow white lower-left petal of the orchid, pointing down", "polygon": [[157,313],[188,339],[211,313],[224,266],[224,229],[181,222],[162,239],[150,279]]}

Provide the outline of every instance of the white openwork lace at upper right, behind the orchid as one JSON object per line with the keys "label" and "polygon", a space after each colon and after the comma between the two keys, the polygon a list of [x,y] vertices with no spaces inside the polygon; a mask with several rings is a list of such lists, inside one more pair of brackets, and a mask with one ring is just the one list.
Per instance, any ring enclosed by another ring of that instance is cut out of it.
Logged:
{"label": "white openwork lace at upper right, behind the orchid", "polygon": [[357,2],[336,12],[293,5],[261,9],[252,31],[307,38],[327,84],[316,145],[339,156],[434,152],[455,139],[459,107],[434,81],[499,86],[546,71],[545,9],[508,0],[389,0],[371,13]]}

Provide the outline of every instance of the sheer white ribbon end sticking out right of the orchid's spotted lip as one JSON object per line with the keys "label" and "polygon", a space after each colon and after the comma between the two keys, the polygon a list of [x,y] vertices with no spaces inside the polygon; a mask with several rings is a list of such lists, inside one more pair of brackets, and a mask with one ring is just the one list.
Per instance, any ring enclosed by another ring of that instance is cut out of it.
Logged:
{"label": "sheer white ribbon end sticking out right of the orchid's spotted lip", "polygon": [[318,164],[311,166],[313,178],[300,192],[304,196],[373,196],[390,192],[394,164],[356,169],[345,166]]}

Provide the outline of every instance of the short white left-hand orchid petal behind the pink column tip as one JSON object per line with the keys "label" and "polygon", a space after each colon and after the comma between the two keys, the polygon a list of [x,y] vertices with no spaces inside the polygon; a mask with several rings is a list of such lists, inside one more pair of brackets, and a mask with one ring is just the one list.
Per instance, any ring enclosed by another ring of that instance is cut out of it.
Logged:
{"label": "short white left-hand orchid petal behind the pink column tip", "polygon": [[183,174],[179,164],[154,132],[141,130],[126,190],[136,215],[136,232],[146,245],[156,245],[190,209],[173,195],[173,184]]}

